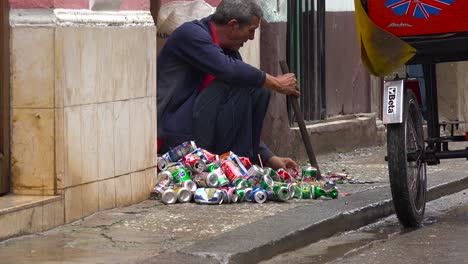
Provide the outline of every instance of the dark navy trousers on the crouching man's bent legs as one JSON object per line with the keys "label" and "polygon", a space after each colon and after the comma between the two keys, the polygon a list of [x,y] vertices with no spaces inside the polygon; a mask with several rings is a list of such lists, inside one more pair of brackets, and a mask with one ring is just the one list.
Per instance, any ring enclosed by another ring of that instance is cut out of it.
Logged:
{"label": "dark navy trousers on the crouching man's bent legs", "polygon": [[193,137],[198,147],[213,153],[233,151],[257,160],[270,91],[235,87],[213,81],[195,100]]}

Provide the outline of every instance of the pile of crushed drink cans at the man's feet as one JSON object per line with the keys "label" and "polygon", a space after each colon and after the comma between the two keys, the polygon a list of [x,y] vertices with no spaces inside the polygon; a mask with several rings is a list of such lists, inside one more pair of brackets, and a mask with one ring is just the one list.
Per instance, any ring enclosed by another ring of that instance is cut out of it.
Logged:
{"label": "pile of crushed drink cans at the man's feet", "polygon": [[305,166],[277,171],[252,164],[233,152],[215,155],[185,142],[158,157],[158,180],[153,199],[165,204],[196,202],[228,204],[240,202],[284,202],[290,199],[338,198],[332,180],[316,181],[317,170]]}

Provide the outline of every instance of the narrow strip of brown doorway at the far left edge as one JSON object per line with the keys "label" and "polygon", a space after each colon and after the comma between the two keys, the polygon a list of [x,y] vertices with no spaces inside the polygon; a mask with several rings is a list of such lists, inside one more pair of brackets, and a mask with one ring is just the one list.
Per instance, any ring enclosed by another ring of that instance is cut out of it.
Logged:
{"label": "narrow strip of brown doorway at the far left edge", "polygon": [[10,18],[0,1],[0,195],[10,191]]}

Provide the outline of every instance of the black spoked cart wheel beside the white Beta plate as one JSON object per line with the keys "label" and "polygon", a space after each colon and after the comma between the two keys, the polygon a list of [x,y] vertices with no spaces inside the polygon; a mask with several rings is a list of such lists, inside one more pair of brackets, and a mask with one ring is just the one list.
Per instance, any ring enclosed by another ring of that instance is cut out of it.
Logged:
{"label": "black spoked cart wheel beside the white Beta plate", "polygon": [[426,208],[426,163],[422,116],[411,90],[404,95],[403,123],[387,126],[387,156],[393,205],[405,227],[421,225]]}

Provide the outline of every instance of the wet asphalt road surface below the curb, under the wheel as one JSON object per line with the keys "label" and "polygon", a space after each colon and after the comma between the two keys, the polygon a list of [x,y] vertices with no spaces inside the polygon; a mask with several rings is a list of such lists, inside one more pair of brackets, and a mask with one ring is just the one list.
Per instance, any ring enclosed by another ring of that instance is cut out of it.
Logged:
{"label": "wet asphalt road surface below the curb, under the wheel", "polygon": [[395,215],[285,253],[275,263],[468,263],[468,190],[427,204],[424,226],[402,228]]}

